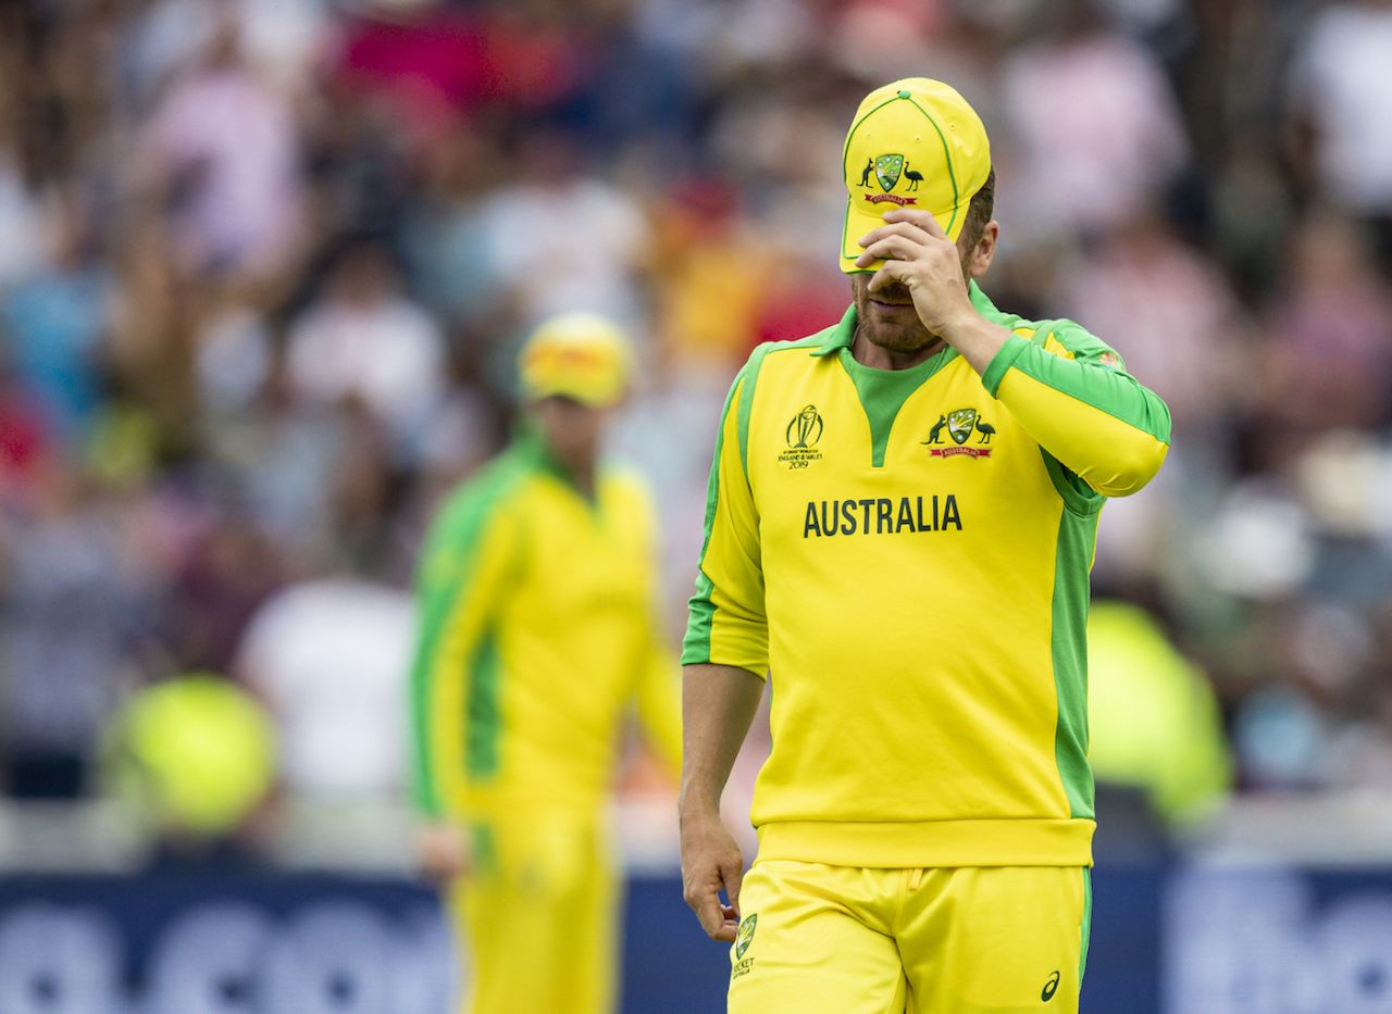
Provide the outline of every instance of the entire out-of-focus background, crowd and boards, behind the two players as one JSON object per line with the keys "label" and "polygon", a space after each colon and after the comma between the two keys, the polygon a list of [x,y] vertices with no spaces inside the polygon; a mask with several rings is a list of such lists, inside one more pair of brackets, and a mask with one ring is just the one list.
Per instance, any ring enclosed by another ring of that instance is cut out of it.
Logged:
{"label": "entire out-of-focus background, crowd and boards, behind the two players", "polygon": [[[1389,67],[1382,0],[0,0],[0,1010],[444,1010],[432,505],[529,327],[615,317],[675,641],[725,388],[839,317],[841,140],[917,74],[992,299],[1173,412],[1097,554],[1084,1010],[1392,1008]],[[714,1010],[629,754],[626,1010]]]}

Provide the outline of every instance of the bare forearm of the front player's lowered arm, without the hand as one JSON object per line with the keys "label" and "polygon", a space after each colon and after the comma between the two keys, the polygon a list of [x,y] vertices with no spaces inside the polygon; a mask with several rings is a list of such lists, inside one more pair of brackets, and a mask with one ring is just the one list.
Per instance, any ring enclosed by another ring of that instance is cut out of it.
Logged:
{"label": "bare forearm of the front player's lowered arm, without the hand", "polygon": [[764,682],[732,665],[688,665],[682,675],[681,814],[714,814],[759,708]]}

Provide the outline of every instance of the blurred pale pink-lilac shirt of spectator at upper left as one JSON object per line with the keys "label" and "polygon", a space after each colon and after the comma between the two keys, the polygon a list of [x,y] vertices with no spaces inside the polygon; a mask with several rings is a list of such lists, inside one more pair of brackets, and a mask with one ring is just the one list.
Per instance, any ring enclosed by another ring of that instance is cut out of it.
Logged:
{"label": "blurred pale pink-lilac shirt of spectator at upper left", "polygon": [[192,270],[271,271],[301,225],[299,140],[290,102],[238,67],[175,83],[148,140],[166,179],[188,188],[177,211]]}

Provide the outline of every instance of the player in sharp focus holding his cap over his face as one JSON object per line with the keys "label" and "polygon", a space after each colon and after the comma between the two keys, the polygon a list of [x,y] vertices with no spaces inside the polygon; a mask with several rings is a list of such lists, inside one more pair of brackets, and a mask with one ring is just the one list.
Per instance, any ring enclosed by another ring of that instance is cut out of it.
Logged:
{"label": "player in sharp focus holding his cap over his face", "polygon": [[[1079,324],[977,285],[994,177],[954,89],[871,92],[842,159],[852,306],[759,346],[715,437],[686,900],[734,943],[735,1014],[1076,1011],[1097,516],[1160,469],[1169,413]],[[717,807],[766,677],[742,878]]]}

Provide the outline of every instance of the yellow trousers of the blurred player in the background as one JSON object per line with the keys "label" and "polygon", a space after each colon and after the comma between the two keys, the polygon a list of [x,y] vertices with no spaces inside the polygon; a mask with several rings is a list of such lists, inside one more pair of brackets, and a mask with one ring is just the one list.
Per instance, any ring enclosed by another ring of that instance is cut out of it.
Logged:
{"label": "yellow trousers of the blurred player in the background", "polygon": [[465,1014],[614,1014],[619,889],[607,829],[569,814],[475,823],[451,890]]}

